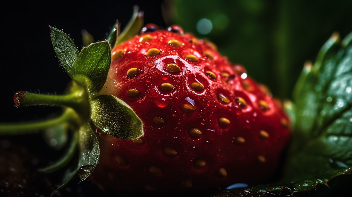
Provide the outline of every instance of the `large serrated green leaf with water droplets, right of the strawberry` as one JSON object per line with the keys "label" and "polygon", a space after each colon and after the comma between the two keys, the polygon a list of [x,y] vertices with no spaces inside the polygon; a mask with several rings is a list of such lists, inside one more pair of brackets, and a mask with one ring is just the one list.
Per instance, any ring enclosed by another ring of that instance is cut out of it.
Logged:
{"label": "large serrated green leaf with water droplets, right of the strawberry", "polygon": [[[296,121],[285,166],[286,181],[327,182],[352,168],[352,43],[337,34],[298,80]],[[308,185],[312,185],[307,183]]]}

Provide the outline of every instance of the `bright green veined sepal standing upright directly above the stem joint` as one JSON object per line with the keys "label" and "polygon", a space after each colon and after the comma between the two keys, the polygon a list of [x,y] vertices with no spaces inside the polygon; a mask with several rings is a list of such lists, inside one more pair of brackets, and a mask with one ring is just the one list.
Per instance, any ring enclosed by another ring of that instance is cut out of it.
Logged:
{"label": "bright green veined sepal standing upright directly above the stem joint", "polygon": [[110,68],[111,49],[108,41],[84,47],[69,71],[73,80],[87,88],[90,97],[103,87]]}

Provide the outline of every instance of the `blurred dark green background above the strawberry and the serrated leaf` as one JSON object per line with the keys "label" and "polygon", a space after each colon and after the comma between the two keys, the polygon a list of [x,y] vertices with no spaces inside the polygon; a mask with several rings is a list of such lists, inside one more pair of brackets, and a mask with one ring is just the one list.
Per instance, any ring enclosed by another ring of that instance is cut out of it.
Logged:
{"label": "blurred dark green background above the strawberry and the serrated leaf", "polygon": [[231,62],[290,98],[306,60],[338,31],[352,31],[351,0],[169,0],[166,24],[214,42]]}

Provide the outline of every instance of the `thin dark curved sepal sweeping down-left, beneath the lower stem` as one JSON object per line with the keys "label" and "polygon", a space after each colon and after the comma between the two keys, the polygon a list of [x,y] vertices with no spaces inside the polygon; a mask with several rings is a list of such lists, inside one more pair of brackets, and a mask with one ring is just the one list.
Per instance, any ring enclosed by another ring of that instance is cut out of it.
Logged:
{"label": "thin dark curved sepal sweeping down-left, beneath the lower stem", "polygon": [[72,138],[69,147],[67,147],[66,152],[61,156],[60,159],[58,159],[54,164],[45,167],[43,169],[39,169],[39,171],[45,172],[45,173],[51,173],[55,172],[62,167],[66,166],[70,160],[73,158],[76,149],[77,149],[77,142],[78,142],[78,132],[73,132],[72,133]]}

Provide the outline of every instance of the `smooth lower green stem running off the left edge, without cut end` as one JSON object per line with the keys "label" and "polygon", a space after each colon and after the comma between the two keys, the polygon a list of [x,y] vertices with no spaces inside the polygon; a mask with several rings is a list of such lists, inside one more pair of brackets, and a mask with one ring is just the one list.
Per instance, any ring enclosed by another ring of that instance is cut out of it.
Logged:
{"label": "smooth lower green stem running off the left edge, without cut end", "polygon": [[75,124],[79,124],[80,121],[81,120],[78,114],[73,109],[67,108],[61,116],[52,120],[1,124],[0,135],[22,135],[38,133],[39,131],[52,128],[63,123],[75,122]]}

